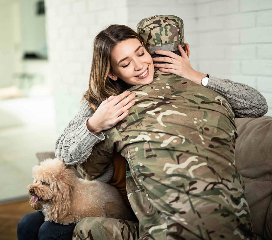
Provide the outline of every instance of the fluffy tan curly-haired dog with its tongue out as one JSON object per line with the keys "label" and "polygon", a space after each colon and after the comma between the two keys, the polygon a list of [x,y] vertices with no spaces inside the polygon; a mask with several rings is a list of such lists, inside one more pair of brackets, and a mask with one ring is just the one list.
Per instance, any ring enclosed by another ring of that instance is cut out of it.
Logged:
{"label": "fluffy tan curly-haired dog with its tongue out", "polygon": [[28,185],[30,205],[42,210],[44,221],[63,225],[89,216],[129,219],[130,213],[118,190],[98,180],[83,180],[58,159],[46,159],[32,168]]}

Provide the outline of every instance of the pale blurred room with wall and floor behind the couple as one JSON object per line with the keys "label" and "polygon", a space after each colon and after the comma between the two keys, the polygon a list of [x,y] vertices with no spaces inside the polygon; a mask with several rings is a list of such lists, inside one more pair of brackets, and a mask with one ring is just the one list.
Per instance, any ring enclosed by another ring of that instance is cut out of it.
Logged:
{"label": "pale blurred room with wall and floor behind the couple", "polygon": [[271,0],[0,0],[0,207],[13,209],[0,209],[1,239],[31,211],[36,153],[54,151],[78,111],[96,34],[158,14],[183,19],[194,69],[256,88],[272,116]]}

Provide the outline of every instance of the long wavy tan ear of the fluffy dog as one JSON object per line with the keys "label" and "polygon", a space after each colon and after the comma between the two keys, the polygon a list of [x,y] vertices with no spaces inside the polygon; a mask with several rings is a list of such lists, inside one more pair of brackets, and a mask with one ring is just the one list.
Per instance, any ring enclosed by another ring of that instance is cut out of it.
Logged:
{"label": "long wavy tan ear of the fluffy dog", "polygon": [[74,174],[67,168],[64,174],[54,183],[53,199],[51,202],[50,215],[56,223],[70,212],[70,207],[74,199]]}

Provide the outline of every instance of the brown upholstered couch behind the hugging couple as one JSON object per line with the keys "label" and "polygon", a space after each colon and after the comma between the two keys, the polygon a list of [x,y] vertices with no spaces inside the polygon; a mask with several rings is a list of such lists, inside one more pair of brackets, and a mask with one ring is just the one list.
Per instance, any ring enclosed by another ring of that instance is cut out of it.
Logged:
{"label": "brown upholstered couch behind the hugging couple", "polygon": [[[236,125],[235,161],[244,178],[254,232],[257,239],[272,239],[272,117],[237,118]],[[41,161],[55,154],[37,157]]]}

